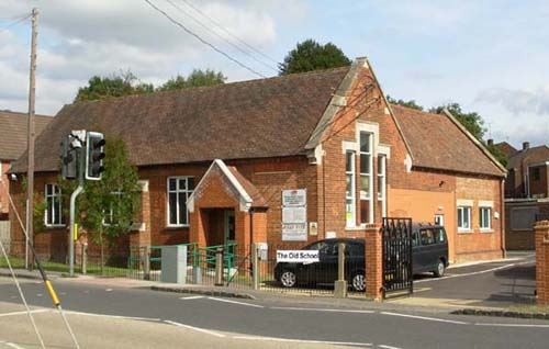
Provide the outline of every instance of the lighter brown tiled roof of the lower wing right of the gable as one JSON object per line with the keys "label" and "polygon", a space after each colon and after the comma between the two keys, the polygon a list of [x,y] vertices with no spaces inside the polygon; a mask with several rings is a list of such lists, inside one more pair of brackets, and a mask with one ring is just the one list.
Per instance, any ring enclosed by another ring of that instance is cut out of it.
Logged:
{"label": "lighter brown tiled roof of the lower wing right of the gable", "polygon": [[391,105],[413,157],[413,165],[456,172],[504,176],[448,115]]}

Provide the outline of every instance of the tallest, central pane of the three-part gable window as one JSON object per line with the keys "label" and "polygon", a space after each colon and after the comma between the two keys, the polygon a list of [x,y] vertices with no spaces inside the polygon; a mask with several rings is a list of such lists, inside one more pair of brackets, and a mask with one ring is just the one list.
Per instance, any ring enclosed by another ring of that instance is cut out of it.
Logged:
{"label": "tallest, central pane of the three-part gable window", "polygon": [[360,206],[361,222],[373,222],[373,195],[372,195],[372,144],[373,135],[360,133]]}

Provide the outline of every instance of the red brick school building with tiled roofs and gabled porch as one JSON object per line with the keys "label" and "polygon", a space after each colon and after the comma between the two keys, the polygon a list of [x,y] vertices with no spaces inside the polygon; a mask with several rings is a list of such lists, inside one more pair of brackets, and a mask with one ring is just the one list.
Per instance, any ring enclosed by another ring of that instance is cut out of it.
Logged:
{"label": "red brick school building with tiled roofs and gabled porch", "polygon": [[[377,234],[382,216],[412,216],[446,226],[451,261],[504,252],[505,169],[450,114],[390,105],[366,58],[66,105],[36,142],[36,191],[53,205],[59,160],[52,149],[82,128],[122,136],[138,167],[142,224],[132,245],[298,248]],[[24,173],[24,165],[23,156],[12,171]],[[11,192],[22,194],[16,184]],[[56,212],[36,241],[66,244],[66,217]]]}

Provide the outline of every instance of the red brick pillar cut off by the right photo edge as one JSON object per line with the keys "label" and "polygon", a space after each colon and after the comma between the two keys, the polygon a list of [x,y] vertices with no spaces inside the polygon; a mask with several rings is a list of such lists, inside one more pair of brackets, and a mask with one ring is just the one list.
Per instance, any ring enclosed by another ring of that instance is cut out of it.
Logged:
{"label": "red brick pillar cut off by the right photo edge", "polygon": [[549,305],[549,221],[541,221],[536,232],[536,289],[538,305]]}

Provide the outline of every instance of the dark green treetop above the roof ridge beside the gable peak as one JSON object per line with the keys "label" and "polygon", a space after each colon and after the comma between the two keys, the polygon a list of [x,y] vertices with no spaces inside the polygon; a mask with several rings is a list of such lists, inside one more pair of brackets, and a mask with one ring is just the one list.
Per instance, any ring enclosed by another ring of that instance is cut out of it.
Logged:
{"label": "dark green treetop above the roof ridge beside the gable peak", "polygon": [[279,64],[279,75],[343,67],[350,63],[336,45],[332,43],[321,45],[310,38],[298,43],[295,48],[290,50],[284,61]]}

